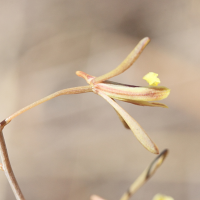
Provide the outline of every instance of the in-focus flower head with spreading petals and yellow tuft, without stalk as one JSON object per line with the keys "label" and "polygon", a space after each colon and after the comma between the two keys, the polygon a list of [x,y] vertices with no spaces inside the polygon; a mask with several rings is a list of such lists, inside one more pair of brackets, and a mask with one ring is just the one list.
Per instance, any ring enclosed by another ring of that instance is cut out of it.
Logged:
{"label": "in-focus flower head with spreading petals and yellow tuft, without stalk", "polygon": [[86,82],[91,86],[92,91],[103,97],[116,110],[125,127],[132,130],[135,137],[147,150],[158,154],[158,147],[149,138],[141,126],[122,107],[120,107],[114,99],[140,106],[166,108],[167,106],[164,104],[150,101],[157,101],[166,98],[169,95],[170,90],[166,87],[157,86],[160,80],[157,78],[157,74],[152,72],[144,77],[144,79],[146,79],[150,84],[148,87],[140,87],[107,81],[108,79],[117,76],[127,70],[139,57],[140,53],[149,41],[149,38],[144,38],[141,40],[135,49],[116,69],[103,76],[95,77],[81,71],[77,71],[76,74],[84,78]]}

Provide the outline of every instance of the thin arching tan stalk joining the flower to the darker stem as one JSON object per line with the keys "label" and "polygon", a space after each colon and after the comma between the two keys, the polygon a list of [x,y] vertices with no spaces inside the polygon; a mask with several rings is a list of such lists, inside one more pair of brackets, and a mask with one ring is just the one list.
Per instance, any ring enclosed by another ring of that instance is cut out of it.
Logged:
{"label": "thin arching tan stalk joining the flower to the darker stem", "polygon": [[[86,93],[86,92],[92,92],[92,88],[90,85],[88,86],[80,86],[80,87],[74,87],[74,88],[68,88],[68,89],[64,89],[64,90],[60,90],[58,92],[55,92],[47,97],[44,97],[24,108],[22,108],[21,110],[15,112],[14,114],[12,114],[11,116],[9,116],[8,118],[6,118],[4,121],[6,124],[8,124],[12,119],[14,119],[15,117],[17,117],[18,115],[22,114],[23,112],[26,112],[27,110],[41,104],[44,103],[45,101],[49,101],[50,99],[53,99],[55,97],[61,96],[61,95],[67,95],[67,94],[80,94],[80,93]],[[3,121],[3,122],[4,122]]]}

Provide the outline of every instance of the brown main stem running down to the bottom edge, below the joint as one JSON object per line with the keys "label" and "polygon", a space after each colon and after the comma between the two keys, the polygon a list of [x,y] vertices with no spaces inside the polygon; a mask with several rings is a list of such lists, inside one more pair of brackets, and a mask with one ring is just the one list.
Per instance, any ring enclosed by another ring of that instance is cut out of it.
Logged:
{"label": "brown main stem running down to the bottom edge, below the joint", "polygon": [[7,152],[7,148],[6,148],[6,143],[3,137],[3,126],[0,126],[0,156],[1,156],[1,160],[2,160],[2,164],[3,164],[3,170],[4,173],[8,179],[8,182],[13,190],[13,193],[16,197],[17,200],[25,200],[22,191],[17,183],[17,180],[15,178],[15,175],[13,173],[11,164],[10,164],[10,160],[8,157],[8,152]]}

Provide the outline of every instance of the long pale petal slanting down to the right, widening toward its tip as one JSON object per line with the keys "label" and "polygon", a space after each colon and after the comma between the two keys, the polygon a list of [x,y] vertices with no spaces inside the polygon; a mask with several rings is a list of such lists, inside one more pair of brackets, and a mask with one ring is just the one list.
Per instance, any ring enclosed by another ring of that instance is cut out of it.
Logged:
{"label": "long pale petal slanting down to the right, widening toward its tip", "polygon": [[142,127],[122,107],[120,107],[115,101],[113,101],[110,97],[108,97],[103,92],[98,91],[98,94],[101,97],[103,97],[108,103],[110,103],[110,105],[113,106],[115,110],[117,110],[117,112],[121,115],[121,117],[130,127],[135,137],[147,150],[155,154],[159,153],[158,147],[149,138],[149,136],[145,133]]}

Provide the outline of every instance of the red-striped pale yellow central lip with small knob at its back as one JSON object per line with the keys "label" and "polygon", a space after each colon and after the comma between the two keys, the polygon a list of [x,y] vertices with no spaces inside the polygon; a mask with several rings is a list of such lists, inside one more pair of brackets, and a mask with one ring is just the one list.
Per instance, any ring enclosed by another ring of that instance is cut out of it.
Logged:
{"label": "red-striped pale yellow central lip with small knob at its back", "polygon": [[[136,85],[117,83],[113,81],[103,81],[101,83],[93,83],[93,81],[95,80],[95,76],[91,76],[82,71],[77,71],[76,74],[84,78],[87,81],[87,83],[89,83],[92,86],[92,90],[94,93],[98,94],[98,91],[102,91],[113,99],[135,103],[137,105],[138,102],[158,101],[165,99],[170,93],[170,90],[163,86],[141,87]],[[153,76],[155,77],[157,76],[157,74],[154,73]],[[145,104],[145,105],[147,106],[150,104]],[[154,106],[155,105],[156,104],[154,104]]]}

